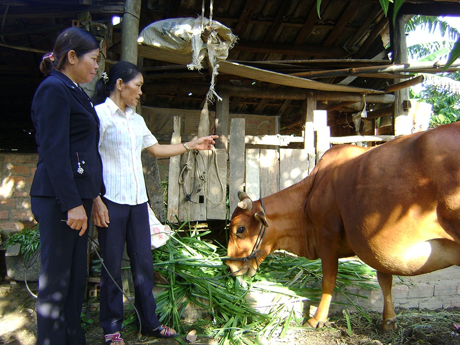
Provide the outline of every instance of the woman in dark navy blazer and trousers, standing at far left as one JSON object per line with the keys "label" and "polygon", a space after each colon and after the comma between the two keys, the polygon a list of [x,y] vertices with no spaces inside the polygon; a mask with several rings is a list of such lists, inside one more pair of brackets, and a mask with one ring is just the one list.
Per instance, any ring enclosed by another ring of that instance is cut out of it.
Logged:
{"label": "woman in dark navy blazer and trousers, standing at far left", "polygon": [[42,264],[37,345],[86,344],[80,323],[88,275],[86,230],[93,200],[102,202],[105,190],[99,120],[79,84],[96,75],[98,55],[99,43],[87,31],[64,30],[42,60],[47,78],[32,102],[38,163],[30,195]]}

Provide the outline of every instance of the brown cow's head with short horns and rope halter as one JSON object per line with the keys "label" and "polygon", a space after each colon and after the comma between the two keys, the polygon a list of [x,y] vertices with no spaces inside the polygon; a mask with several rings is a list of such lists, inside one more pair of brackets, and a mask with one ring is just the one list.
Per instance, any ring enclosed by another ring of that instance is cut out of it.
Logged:
{"label": "brown cow's head with short horns and rope halter", "polygon": [[[252,201],[244,192],[238,193],[239,203],[230,221],[225,264],[232,275],[256,273],[258,264],[269,254],[262,250],[263,231],[268,227],[260,201]],[[259,252],[260,251],[260,252]]]}

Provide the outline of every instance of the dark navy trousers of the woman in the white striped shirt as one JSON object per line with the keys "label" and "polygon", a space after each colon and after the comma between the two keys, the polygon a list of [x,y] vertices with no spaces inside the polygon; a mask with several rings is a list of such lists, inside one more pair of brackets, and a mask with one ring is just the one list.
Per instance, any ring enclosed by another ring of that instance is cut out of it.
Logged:
{"label": "dark navy trousers of the woman in the white striped shirt", "polygon": [[102,198],[109,210],[108,228],[97,228],[104,264],[115,279],[113,283],[107,270],[101,271],[100,323],[105,334],[121,330],[123,323],[123,294],[121,265],[126,248],[134,283],[135,303],[142,330],[161,326],[155,313],[153,297],[153,259],[148,223],[147,202],[140,205],[123,205]]}

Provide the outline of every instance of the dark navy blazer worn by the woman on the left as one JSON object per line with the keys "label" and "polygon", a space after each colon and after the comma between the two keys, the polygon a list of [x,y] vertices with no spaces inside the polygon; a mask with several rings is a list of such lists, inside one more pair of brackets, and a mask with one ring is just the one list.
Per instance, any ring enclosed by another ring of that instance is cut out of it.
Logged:
{"label": "dark navy blazer worn by the woman on the left", "polygon": [[38,163],[30,195],[57,198],[62,212],[104,195],[99,118],[87,94],[52,71],[35,93],[32,122]]}

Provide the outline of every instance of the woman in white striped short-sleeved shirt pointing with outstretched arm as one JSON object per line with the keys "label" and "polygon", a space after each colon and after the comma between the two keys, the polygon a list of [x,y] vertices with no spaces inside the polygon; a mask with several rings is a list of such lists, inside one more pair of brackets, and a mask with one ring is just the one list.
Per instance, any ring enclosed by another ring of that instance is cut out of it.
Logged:
{"label": "woman in white striped short-sleeved shirt pointing with outstretched arm", "polygon": [[[106,194],[104,204],[94,204],[93,221],[106,270],[101,272],[100,323],[109,345],[123,345],[121,262],[125,241],[131,262],[135,307],[139,311],[143,335],[159,338],[177,336],[160,323],[153,297],[153,260],[147,213],[147,191],[141,162],[146,149],[155,157],[172,157],[189,150],[209,150],[217,135],[178,145],[160,145],[147,128],[136,107],[142,94],[144,77],[129,62],[118,62],[96,84],[92,98],[100,119],[99,152],[102,157]],[[107,209],[106,209],[107,207]],[[108,213],[107,213],[108,210]],[[109,221],[110,217],[110,221]]]}

